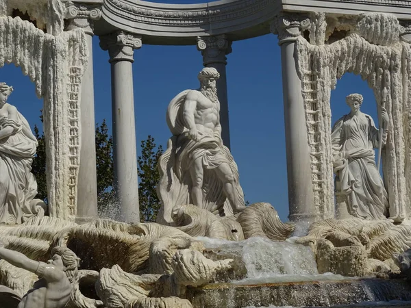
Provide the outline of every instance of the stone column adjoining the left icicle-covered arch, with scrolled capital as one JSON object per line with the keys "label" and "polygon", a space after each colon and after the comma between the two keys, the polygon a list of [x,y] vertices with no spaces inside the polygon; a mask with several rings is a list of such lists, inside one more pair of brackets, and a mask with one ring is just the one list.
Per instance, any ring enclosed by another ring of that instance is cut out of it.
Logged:
{"label": "stone column adjoining the left icicle-covered arch, with scrolled capital", "polygon": [[98,216],[92,36],[94,36],[93,21],[100,17],[101,10],[96,5],[69,3],[66,8],[66,18],[69,20],[66,29],[84,30],[89,53],[80,99],[81,144],[76,215],[76,221],[80,223]]}

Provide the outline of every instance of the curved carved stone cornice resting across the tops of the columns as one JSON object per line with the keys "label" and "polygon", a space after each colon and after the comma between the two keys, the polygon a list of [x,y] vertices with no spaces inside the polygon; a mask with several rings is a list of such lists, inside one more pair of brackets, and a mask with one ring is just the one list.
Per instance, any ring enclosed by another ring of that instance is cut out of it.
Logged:
{"label": "curved carved stone cornice resting across the tops of the columns", "polygon": [[146,44],[195,44],[198,36],[222,34],[231,40],[261,36],[269,33],[269,24],[281,11],[347,15],[382,12],[411,20],[411,1],[394,0],[220,0],[186,5],[142,0],[71,1],[102,3],[103,21],[98,23],[97,35],[121,29],[144,36]]}

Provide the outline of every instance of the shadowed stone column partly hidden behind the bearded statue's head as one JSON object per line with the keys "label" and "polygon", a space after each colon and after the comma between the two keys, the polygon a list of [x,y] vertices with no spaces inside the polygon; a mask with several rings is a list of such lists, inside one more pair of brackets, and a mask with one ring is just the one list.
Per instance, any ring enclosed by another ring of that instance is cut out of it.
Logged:
{"label": "shadowed stone column partly hidden behind the bearded statue's head", "polygon": [[203,66],[214,67],[220,73],[220,79],[217,80],[217,94],[220,101],[220,123],[221,138],[223,143],[230,149],[229,141],[229,116],[228,116],[228,98],[227,98],[227,57],[225,55],[232,52],[232,42],[227,40],[227,36],[207,36],[197,38],[197,49],[203,55]]}

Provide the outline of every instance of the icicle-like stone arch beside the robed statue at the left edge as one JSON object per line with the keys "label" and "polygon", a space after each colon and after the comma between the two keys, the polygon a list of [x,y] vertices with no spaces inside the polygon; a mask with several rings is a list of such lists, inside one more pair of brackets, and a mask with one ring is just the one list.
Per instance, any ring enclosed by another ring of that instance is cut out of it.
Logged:
{"label": "icicle-like stone arch beside the robed statue at the left edge", "polygon": [[[1,0],[0,68],[20,66],[44,99],[49,211],[51,216],[72,220],[77,210],[79,91],[88,50],[84,31],[63,32],[63,8],[58,0]],[[38,18],[41,29],[12,18],[14,9]]]}

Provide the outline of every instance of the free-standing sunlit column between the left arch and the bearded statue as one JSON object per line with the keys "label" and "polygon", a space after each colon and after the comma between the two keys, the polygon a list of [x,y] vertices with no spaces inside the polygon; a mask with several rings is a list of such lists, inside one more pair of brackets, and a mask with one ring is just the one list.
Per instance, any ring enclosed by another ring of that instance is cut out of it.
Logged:
{"label": "free-standing sunlit column between the left arch and the bearded statue", "polygon": [[114,192],[120,205],[120,220],[140,222],[136,125],[134,118],[134,49],[140,49],[141,37],[117,31],[100,37],[100,46],[108,50],[112,78],[112,124],[114,142]]}

